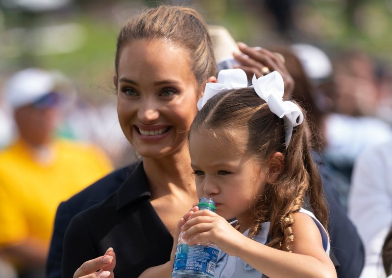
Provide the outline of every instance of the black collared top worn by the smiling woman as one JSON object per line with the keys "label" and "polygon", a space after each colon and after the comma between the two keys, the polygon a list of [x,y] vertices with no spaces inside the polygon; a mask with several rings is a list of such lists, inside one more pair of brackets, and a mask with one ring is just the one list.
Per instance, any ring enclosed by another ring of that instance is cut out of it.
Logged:
{"label": "black collared top worn by the smiling woman", "polygon": [[118,278],[137,278],[148,267],[169,261],[173,237],[150,197],[141,162],[115,193],[74,216],[64,238],[62,277],[73,277],[83,262],[109,247],[116,252]]}

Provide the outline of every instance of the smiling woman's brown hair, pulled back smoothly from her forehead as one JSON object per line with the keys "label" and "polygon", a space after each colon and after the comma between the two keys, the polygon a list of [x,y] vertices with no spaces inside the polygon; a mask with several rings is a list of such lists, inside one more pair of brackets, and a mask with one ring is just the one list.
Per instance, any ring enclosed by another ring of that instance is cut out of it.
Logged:
{"label": "smiling woman's brown hair, pulled back smoothly from her forehead", "polygon": [[216,76],[217,66],[207,24],[194,9],[160,5],[145,9],[121,29],[116,48],[115,69],[123,47],[136,40],[162,39],[168,44],[188,50],[190,65],[199,85]]}

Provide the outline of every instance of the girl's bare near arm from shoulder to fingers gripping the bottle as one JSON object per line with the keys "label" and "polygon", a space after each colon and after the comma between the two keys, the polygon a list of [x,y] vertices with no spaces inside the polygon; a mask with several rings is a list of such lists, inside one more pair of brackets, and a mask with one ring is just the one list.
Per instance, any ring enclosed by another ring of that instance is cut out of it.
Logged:
{"label": "girl's bare near arm from shoulder to fingers gripping the bottle", "polygon": [[184,238],[189,244],[212,242],[232,256],[270,278],[336,278],[335,267],[322,247],[319,229],[304,213],[294,214],[293,253],[277,250],[258,243],[240,232],[216,213],[201,210],[184,225]]}

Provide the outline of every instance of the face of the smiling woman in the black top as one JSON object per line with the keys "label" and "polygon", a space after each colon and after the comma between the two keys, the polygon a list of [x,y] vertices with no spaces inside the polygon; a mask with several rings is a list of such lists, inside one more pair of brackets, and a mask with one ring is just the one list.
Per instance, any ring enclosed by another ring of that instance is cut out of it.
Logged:
{"label": "face of the smiling woman in the black top", "polygon": [[160,39],[138,40],[121,51],[115,80],[119,122],[145,158],[162,158],[186,147],[200,97],[189,61],[184,48]]}

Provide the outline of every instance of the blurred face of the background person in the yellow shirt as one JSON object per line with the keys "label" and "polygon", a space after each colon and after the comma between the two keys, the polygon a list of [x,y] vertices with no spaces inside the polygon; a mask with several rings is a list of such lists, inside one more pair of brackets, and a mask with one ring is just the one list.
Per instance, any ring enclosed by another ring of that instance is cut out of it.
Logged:
{"label": "blurred face of the background person in the yellow shirt", "polygon": [[60,96],[49,93],[36,102],[17,108],[15,122],[20,137],[33,146],[49,144],[60,122]]}

